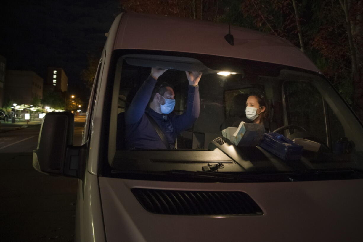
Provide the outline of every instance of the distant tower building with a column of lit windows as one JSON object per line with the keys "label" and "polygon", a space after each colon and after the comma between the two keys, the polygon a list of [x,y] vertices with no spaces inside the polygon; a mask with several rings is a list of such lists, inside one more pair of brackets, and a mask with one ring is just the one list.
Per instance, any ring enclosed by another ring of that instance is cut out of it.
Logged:
{"label": "distant tower building with a column of lit windows", "polygon": [[64,93],[68,90],[68,77],[62,68],[48,67],[45,85],[46,89]]}

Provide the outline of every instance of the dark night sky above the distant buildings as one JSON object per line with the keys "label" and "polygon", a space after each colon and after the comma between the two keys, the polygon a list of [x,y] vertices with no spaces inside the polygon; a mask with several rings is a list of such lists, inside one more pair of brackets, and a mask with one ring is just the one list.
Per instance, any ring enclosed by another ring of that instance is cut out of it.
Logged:
{"label": "dark night sky above the distant buildings", "polygon": [[63,68],[68,93],[86,99],[80,73],[88,54],[101,56],[118,6],[119,0],[3,0],[0,55],[7,69],[32,70],[43,79],[47,67]]}

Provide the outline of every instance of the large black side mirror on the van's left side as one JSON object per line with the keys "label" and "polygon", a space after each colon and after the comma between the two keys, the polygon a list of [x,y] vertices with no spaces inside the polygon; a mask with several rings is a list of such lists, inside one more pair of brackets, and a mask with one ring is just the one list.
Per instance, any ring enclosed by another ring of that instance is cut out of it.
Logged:
{"label": "large black side mirror on the van's left side", "polygon": [[33,152],[33,167],[42,173],[80,177],[84,146],[72,146],[74,115],[50,112],[45,115]]}

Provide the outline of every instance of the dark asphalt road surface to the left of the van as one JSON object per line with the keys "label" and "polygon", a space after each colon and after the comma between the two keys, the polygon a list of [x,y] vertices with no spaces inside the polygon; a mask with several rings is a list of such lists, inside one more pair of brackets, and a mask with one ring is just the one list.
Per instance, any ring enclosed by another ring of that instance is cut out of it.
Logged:
{"label": "dark asphalt road surface to the left of the van", "polygon": [[[75,118],[81,144],[85,116]],[[0,134],[0,241],[73,241],[77,179],[32,167],[40,125]]]}

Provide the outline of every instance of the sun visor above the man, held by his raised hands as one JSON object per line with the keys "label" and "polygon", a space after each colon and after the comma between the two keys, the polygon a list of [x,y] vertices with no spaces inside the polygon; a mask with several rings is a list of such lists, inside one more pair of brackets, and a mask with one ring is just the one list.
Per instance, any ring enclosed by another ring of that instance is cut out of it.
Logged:
{"label": "sun visor above the man, held by his raised hands", "polygon": [[122,56],[122,58],[132,66],[203,72],[208,69],[202,62],[188,57],[129,54]]}

